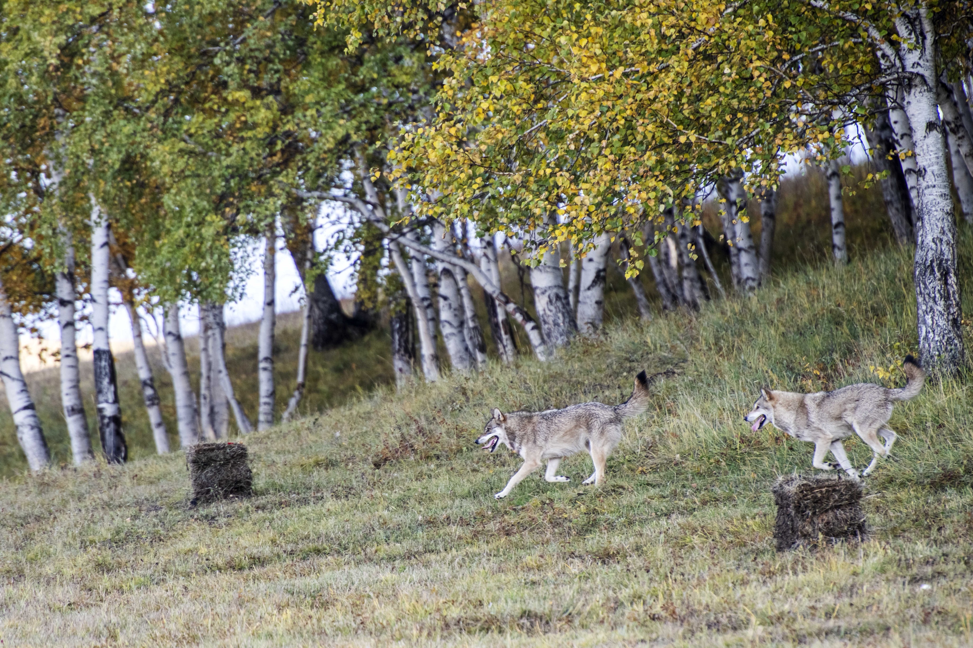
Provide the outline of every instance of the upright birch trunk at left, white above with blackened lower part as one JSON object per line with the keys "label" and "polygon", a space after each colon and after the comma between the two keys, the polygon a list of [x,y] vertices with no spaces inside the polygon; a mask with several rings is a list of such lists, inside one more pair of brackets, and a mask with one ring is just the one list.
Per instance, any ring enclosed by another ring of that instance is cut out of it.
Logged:
{"label": "upright birch trunk at left, white above with blackened lower part", "polygon": [[122,433],[115,358],[108,346],[108,273],[110,248],[108,217],[94,196],[91,200],[91,326],[94,329],[94,394],[98,412],[101,449],[109,463],[124,463],[128,457]]}

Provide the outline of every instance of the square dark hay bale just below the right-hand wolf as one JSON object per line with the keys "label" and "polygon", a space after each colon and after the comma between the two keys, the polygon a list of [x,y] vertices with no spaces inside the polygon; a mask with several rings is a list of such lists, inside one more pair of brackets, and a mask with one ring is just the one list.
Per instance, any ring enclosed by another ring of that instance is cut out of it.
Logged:
{"label": "square dark hay bale just below the right-hand wolf", "polygon": [[773,491],[777,551],[865,536],[861,482],[830,475],[786,475]]}

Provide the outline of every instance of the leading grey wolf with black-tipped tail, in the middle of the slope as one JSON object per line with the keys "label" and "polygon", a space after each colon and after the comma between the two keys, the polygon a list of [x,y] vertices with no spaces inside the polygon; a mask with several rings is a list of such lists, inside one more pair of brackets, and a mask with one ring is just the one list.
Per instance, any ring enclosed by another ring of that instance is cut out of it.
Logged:
{"label": "leading grey wolf with black-tipped tail, in the middle of the slope", "polygon": [[494,409],[484,433],[475,443],[485,445],[490,452],[502,443],[523,457],[523,465],[510,478],[507,487],[493,496],[500,499],[509,495],[543,460],[548,462],[544,479],[569,481],[556,474],[560,460],[583,450],[590,452],[595,462],[595,472],[583,483],[601,484],[605,460],[622,439],[622,421],[641,414],[648,405],[649,380],[642,371],[635,377],[631,396],[621,405],[581,403],[560,410],[508,414]]}

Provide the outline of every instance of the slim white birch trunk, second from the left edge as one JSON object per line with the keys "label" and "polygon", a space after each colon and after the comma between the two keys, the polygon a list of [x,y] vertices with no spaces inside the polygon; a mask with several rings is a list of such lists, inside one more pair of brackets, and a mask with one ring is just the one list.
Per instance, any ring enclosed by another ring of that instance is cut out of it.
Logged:
{"label": "slim white birch trunk, second from the left edge", "polygon": [[71,457],[75,465],[94,459],[85,401],[81,397],[78,371],[78,345],[75,342],[74,304],[78,298],[74,286],[74,245],[70,234],[64,240],[64,269],[54,278],[57,290],[57,320],[60,324],[61,407],[71,439]]}

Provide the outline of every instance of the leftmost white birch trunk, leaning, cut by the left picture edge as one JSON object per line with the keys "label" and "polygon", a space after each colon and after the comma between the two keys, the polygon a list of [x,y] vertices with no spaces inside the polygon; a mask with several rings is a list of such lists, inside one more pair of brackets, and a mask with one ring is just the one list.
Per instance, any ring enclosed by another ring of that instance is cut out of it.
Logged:
{"label": "leftmost white birch trunk, leaning, cut by the left picture edge", "polygon": [[20,371],[20,340],[17,334],[17,324],[3,281],[0,280],[0,378],[7,392],[7,404],[14,416],[17,426],[17,440],[23,454],[27,457],[27,465],[33,471],[40,470],[51,463],[51,451],[41,429],[41,420],[37,417],[37,408],[27,391],[27,383]]}

